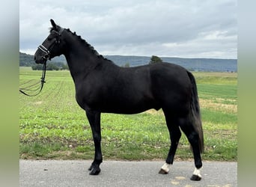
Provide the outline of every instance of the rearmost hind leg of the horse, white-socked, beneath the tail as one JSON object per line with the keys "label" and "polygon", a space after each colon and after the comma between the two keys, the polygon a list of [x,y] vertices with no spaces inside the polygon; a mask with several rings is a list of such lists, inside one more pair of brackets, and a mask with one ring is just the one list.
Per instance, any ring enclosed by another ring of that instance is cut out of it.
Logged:
{"label": "rearmost hind leg of the horse, white-socked, beneath the tail", "polygon": [[195,127],[190,122],[189,117],[180,118],[179,125],[180,125],[180,129],[182,129],[182,131],[185,133],[186,137],[188,138],[189,143],[192,146],[192,151],[194,155],[195,171],[190,179],[201,180],[200,169],[202,168],[203,164],[201,161],[198,132],[195,130]]}

